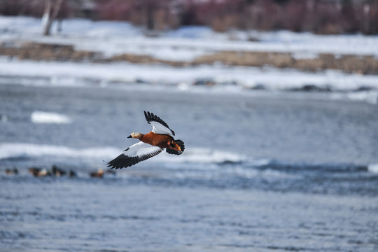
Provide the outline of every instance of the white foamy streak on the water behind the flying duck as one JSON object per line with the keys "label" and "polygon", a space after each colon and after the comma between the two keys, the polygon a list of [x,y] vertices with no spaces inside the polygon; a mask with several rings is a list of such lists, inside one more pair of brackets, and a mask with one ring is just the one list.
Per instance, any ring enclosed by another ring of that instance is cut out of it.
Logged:
{"label": "white foamy streak on the water behind the flying duck", "polygon": [[[45,144],[25,144],[25,143],[5,143],[0,144],[0,160],[7,158],[42,158],[59,157],[76,160],[92,160],[104,165],[103,160],[112,160],[123,151],[120,148],[109,146],[98,146],[91,148],[72,148],[68,146],[53,146]],[[216,174],[237,174],[246,178],[255,176],[289,176],[284,171],[274,169],[258,170],[255,167],[268,165],[271,160],[254,159],[232,153],[228,151],[215,150],[211,148],[187,148],[182,155],[170,155],[163,151],[159,155],[143,162],[149,167],[148,163],[160,164],[159,166],[178,171],[192,172],[216,172]],[[230,165],[228,165],[230,164]],[[235,165],[232,165],[235,164]],[[378,174],[378,163],[368,165],[368,171]],[[188,174],[187,174],[188,175]],[[190,176],[197,176],[194,173]],[[203,174],[201,175],[203,176]],[[214,176],[213,173],[209,176]],[[293,176],[293,175],[290,175]]]}

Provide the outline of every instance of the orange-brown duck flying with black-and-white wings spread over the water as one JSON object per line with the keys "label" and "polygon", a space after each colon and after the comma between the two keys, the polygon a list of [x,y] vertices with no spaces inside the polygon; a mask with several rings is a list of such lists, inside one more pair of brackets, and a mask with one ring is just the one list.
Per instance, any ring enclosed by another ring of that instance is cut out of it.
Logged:
{"label": "orange-brown duck flying with black-and-white wings spread over the water", "polygon": [[144,111],[147,123],[153,126],[153,130],[147,134],[132,132],[127,138],[139,139],[140,142],[127,148],[117,158],[106,163],[111,169],[131,167],[148,158],[152,158],[166,149],[167,153],[181,155],[185,150],[183,141],[174,139],[174,131],[167,123],[153,113]]}

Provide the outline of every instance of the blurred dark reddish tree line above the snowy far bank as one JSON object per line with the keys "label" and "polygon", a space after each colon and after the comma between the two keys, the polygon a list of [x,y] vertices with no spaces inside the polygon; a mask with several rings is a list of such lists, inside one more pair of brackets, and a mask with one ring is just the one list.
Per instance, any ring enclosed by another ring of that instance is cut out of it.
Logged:
{"label": "blurred dark reddish tree line above the snowy far bank", "polygon": [[[46,1],[0,0],[1,15],[42,17]],[[54,8],[50,9],[50,13]],[[215,31],[288,29],[378,34],[378,0],[64,0],[56,18],[126,20],[148,30],[205,25]]]}

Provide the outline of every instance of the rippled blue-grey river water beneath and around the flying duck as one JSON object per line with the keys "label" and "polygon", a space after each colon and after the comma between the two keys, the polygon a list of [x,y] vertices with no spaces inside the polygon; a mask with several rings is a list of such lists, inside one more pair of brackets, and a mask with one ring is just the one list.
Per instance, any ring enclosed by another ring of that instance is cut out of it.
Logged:
{"label": "rippled blue-grey river water beneath and around the flying duck", "polygon": [[[33,81],[0,85],[0,251],[378,250],[377,105]],[[143,111],[185,153],[91,178],[151,130]],[[77,176],[28,172],[52,165]]]}

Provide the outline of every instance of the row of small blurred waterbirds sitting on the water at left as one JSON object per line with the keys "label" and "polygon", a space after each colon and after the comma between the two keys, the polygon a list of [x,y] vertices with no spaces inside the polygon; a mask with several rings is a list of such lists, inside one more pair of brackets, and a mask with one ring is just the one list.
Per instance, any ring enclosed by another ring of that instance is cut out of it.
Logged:
{"label": "row of small blurred waterbirds sitting on the water at left", "polygon": [[[55,176],[55,177],[60,177],[60,176],[67,176],[69,178],[74,178],[77,177],[78,174],[73,171],[73,170],[65,170],[62,168],[57,167],[56,165],[52,165],[51,169],[45,169],[41,167],[30,167],[28,169],[29,174],[35,176],[35,177],[45,177],[45,176]],[[7,175],[18,175],[18,169],[14,167],[13,169],[11,168],[6,168],[5,173]],[[98,169],[97,171],[90,172],[89,176],[91,178],[103,178],[104,174],[116,174],[115,171],[108,169],[104,171],[104,169]]]}

